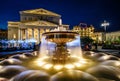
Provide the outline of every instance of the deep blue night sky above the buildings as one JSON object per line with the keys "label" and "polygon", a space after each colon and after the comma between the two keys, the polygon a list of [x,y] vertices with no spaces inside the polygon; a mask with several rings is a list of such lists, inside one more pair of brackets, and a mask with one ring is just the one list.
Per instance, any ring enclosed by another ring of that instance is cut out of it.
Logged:
{"label": "deep blue night sky above the buildings", "polygon": [[106,20],[107,31],[120,30],[119,0],[2,0],[0,2],[0,29],[7,29],[7,21],[19,21],[19,11],[44,8],[62,15],[63,24],[70,28],[87,23],[95,28]]}

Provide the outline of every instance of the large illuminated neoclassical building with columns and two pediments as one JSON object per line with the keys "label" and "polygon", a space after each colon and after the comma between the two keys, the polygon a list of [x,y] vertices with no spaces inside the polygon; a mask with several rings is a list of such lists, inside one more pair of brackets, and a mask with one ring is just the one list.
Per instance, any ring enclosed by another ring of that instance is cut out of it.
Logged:
{"label": "large illuminated neoclassical building with columns and two pediments", "polygon": [[[24,40],[34,38],[40,42],[42,33],[55,29],[61,15],[43,8],[20,11],[20,21],[8,21],[8,39]],[[63,25],[69,29],[69,25]]]}

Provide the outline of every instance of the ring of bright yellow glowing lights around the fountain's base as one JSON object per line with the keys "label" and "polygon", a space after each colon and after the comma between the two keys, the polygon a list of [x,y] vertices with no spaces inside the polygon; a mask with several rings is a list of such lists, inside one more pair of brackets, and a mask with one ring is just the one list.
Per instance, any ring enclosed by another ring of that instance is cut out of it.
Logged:
{"label": "ring of bright yellow glowing lights around the fountain's base", "polygon": [[53,71],[60,71],[64,69],[83,69],[85,67],[89,67],[90,65],[93,65],[91,60],[88,59],[79,59],[76,56],[73,56],[74,58],[71,58],[70,61],[66,62],[65,64],[60,63],[53,63],[52,60],[50,60],[50,57],[43,57],[36,59],[33,64],[34,66],[38,68],[42,68],[45,70],[52,69]]}

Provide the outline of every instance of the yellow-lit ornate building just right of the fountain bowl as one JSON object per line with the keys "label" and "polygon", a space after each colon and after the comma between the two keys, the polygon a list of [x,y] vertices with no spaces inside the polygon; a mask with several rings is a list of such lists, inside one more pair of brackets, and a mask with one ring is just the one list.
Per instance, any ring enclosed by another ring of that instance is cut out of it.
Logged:
{"label": "yellow-lit ornate building just right of the fountain bowl", "polygon": [[93,25],[88,26],[85,23],[80,23],[80,25],[73,27],[73,31],[79,33],[80,37],[90,37],[97,43],[102,42],[102,32],[95,32]]}

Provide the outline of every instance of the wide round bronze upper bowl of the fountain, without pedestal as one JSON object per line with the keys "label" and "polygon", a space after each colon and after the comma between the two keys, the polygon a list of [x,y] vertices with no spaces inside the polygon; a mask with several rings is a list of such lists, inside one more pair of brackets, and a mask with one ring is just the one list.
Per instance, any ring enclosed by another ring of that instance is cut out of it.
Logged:
{"label": "wide round bronze upper bowl of the fountain, without pedestal", "polygon": [[75,40],[75,36],[79,34],[72,31],[53,31],[43,33],[43,35],[46,36],[47,41],[54,42],[56,44],[65,44],[66,42]]}

